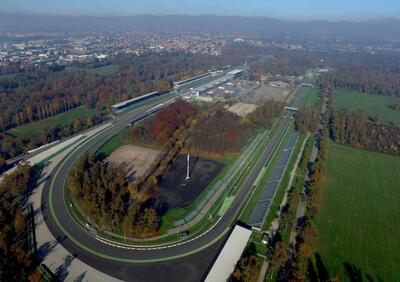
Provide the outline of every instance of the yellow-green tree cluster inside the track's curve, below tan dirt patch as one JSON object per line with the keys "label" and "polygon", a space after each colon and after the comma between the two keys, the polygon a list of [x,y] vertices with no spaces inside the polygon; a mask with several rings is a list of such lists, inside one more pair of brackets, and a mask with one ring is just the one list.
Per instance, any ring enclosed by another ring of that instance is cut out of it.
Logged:
{"label": "yellow-green tree cluster inside the track's curve, below tan dirt patch", "polygon": [[136,187],[123,170],[86,153],[70,172],[68,190],[78,208],[95,226],[121,230],[130,237],[154,235],[156,211],[139,202]]}

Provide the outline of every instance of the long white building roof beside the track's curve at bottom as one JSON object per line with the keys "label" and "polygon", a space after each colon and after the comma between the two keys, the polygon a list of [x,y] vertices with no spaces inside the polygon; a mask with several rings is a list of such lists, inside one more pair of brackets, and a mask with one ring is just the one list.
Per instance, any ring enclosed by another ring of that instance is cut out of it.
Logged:
{"label": "long white building roof beside the track's curve at bottom", "polygon": [[239,261],[247,242],[251,236],[251,230],[236,225],[226,241],[224,248],[214,262],[205,282],[225,282]]}

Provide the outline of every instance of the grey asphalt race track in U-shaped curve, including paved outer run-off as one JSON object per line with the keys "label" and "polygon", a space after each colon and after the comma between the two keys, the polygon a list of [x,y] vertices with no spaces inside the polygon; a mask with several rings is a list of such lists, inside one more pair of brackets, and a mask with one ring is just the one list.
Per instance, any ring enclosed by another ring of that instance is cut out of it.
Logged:
{"label": "grey asphalt race track in U-shaped curve, including paved outer run-off", "polygon": [[[292,106],[301,105],[309,91],[309,87],[301,87]],[[61,161],[50,179],[46,181],[43,190],[42,212],[54,237],[71,254],[88,265],[125,281],[201,280],[217,255],[240,207],[249,196],[259,171],[272,157],[290,126],[294,114],[290,111],[284,112],[284,116],[277,125],[277,130],[238,191],[231,206],[209,232],[188,240],[186,243],[166,248],[127,249],[97,240],[94,234],[75,223],[67,210],[64,186],[70,168],[86,150],[100,146],[129,122],[142,119],[149,114],[149,109],[159,103],[169,101],[171,97],[163,96],[156,99],[154,103],[150,102],[146,106],[117,117],[112,127],[91,137]],[[54,217],[51,210],[53,210]],[[171,260],[172,258],[173,260]]]}

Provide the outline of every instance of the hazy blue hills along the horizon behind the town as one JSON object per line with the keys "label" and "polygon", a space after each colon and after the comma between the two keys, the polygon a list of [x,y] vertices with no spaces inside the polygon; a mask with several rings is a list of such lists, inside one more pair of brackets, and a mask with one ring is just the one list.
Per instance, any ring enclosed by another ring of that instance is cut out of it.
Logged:
{"label": "hazy blue hills along the horizon behind the town", "polygon": [[236,33],[259,36],[339,37],[400,41],[400,19],[364,21],[280,20],[215,15],[42,16],[1,15],[0,31],[160,31]]}

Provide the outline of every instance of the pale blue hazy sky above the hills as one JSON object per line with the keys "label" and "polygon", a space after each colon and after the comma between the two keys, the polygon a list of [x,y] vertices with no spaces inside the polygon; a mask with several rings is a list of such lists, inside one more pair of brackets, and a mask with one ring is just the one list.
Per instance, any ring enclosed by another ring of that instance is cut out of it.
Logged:
{"label": "pale blue hazy sky above the hills", "polygon": [[216,14],[284,19],[400,17],[400,0],[0,0],[0,12],[51,15]]}

